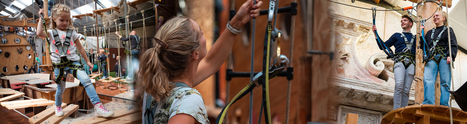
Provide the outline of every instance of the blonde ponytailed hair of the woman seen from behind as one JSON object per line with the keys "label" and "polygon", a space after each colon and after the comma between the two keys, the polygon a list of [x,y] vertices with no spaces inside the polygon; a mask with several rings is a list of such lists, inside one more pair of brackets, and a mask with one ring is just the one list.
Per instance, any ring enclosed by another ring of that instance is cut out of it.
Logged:
{"label": "blonde ponytailed hair of the woman seen from behind", "polygon": [[170,81],[183,76],[192,53],[201,50],[201,32],[198,30],[198,27],[193,28],[190,18],[175,16],[157,31],[154,37],[169,47],[163,48],[153,40],[154,48],[149,48],[142,55],[134,81],[140,91],[153,96],[157,102],[170,95],[174,88]]}

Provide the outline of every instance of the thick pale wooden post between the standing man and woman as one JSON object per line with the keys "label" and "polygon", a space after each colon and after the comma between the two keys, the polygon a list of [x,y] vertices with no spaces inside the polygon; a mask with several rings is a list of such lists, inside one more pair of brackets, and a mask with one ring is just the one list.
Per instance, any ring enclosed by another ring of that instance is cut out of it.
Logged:
{"label": "thick pale wooden post between the standing man and woman", "polygon": [[[421,2],[422,0],[417,0],[417,2]],[[421,6],[421,5],[420,5]],[[419,6],[419,7],[420,7]],[[425,5],[423,6],[423,9],[422,11],[419,11],[417,13],[417,18],[418,18],[418,21],[420,21],[421,19],[428,19],[430,18],[430,16],[435,12],[437,11],[436,8],[438,7],[437,4],[435,3],[432,3],[432,2],[426,2]],[[430,20],[427,20],[426,23],[425,23],[425,34],[428,30],[432,29],[433,27],[436,27],[433,20],[430,19]],[[418,28],[420,28],[420,24],[417,24],[417,30]],[[418,36],[420,36],[421,34],[418,34]],[[419,37],[417,37],[417,47],[420,46],[419,44],[419,41],[421,39]],[[425,40],[429,40],[429,39],[425,39]],[[417,103],[422,103],[423,102],[423,98],[424,98],[424,85],[423,85],[423,72],[424,72],[424,69],[425,69],[425,63],[423,63],[423,50],[422,49],[418,49],[416,50],[416,65],[415,65],[415,77],[418,77],[420,78],[421,80],[418,80],[418,82],[415,82],[414,84],[414,87],[415,87],[415,102]],[[439,78],[439,76],[437,77]],[[435,86],[439,86],[439,82],[437,82],[437,84]],[[439,87],[437,88],[439,89]],[[439,93],[438,93],[439,94]],[[439,95],[436,95],[436,98],[439,99]],[[436,102],[435,102],[436,103]],[[439,100],[438,100],[438,103],[439,104]]]}

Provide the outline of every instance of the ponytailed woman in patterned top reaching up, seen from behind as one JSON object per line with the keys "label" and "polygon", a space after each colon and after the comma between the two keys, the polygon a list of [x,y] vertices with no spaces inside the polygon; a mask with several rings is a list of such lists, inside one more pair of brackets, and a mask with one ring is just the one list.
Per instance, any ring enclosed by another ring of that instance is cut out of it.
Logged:
{"label": "ponytailed woman in patterned top reaching up, seen from behind", "polygon": [[209,53],[203,31],[188,17],[173,17],[159,29],[154,48],[140,59],[135,79],[142,96],[152,96],[148,106],[155,111],[149,114],[154,124],[209,124],[203,98],[193,87],[219,70],[238,30],[259,16],[262,1],[256,1],[256,5],[248,0],[240,7]]}

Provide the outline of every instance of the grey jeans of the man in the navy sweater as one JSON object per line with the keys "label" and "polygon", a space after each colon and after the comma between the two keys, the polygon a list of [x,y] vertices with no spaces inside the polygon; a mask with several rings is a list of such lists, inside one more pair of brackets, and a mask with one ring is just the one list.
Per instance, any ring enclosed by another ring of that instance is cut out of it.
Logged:
{"label": "grey jeans of the man in the navy sweater", "polygon": [[415,65],[411,64],[405,69],[404,64],[408,64],[409,59],[394,64],[394,109],[405,107],[409,104],[410,87],[415,76]]}

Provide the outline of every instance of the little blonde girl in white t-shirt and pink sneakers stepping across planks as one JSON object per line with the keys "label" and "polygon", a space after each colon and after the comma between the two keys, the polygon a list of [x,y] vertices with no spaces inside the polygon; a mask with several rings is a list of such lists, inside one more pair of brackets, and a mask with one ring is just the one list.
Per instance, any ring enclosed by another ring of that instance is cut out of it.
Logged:
{"label": "little blonde girl in white t-shirt and pink sneakers stepping across planks", "polygon": [[[43,9],[39,10],[38,14],[43,13]],[[87,95],[91,99],[92,104],[96,110],[96,116],[98,117],[110,117],[113,115],[112,111],[107,110],[100,99],[97,96],[96,90],[94,89],[91,80],[87,76],[86,72],[81,70],[79,64],[79,56],[76,50],[83,55],[87,65],[92,70],[92,63],[89,62],[86,56],[83,45],[78,40],[78,34],[74,30],[73,20],[70,18],[70,8],[63,4],[55,5],[51,10],[52,19],[50,20],[50,29],[44,32],[42,23],[37,25],[37,35],[41,38],[50,38],[50,58],[54,65],[54,75],[56,77],[55,82],[57,83],[57,92],[55,93],[55,115],[61,117],[64,115],[61,104],[62,95],[65,91],[65,81],[68,73],[73,74],[75,78],[83,84]],[[42,18],[39,19],[39,22]],[[54,37],[55,36],[55,37]],[[57,40],[57,41],[56,41]],[[74,45],[76,44],[76,45]],[[67,46],[67,47],[64,47]]]}

